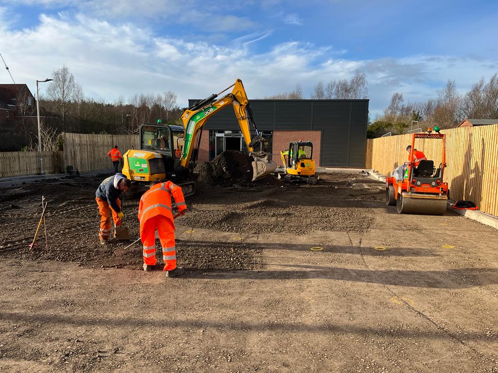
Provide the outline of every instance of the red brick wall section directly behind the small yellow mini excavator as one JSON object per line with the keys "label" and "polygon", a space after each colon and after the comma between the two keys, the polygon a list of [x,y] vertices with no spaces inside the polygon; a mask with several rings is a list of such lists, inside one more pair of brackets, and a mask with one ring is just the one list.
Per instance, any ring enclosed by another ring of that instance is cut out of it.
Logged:
{"label": "red brick wall section directly behind the small yellow mini excavator", "polygon": [[273,131],[273,162],[281,167],[282,159],[280,158],[281,150],[288,150],[289,143],[295,141],[311,141],[313,143],[313,160],[320,166],[320,147],[322,131]]}

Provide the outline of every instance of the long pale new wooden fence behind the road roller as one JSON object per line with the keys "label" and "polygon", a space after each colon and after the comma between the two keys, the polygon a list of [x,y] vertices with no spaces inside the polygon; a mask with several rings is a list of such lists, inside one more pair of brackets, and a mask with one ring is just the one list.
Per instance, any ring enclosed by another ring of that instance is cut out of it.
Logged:
{"label": "long pale new wooden fence behind the road roller", "polygon": [[[498,215],[498,124],[442,130],[446,134],[444,181],[452,199],[471,200],[481,211]],[[366,168],[387,175],[407,161],[411,135],[369,139]],[[415,148],[437,166],[442,141],[416,139]]]}

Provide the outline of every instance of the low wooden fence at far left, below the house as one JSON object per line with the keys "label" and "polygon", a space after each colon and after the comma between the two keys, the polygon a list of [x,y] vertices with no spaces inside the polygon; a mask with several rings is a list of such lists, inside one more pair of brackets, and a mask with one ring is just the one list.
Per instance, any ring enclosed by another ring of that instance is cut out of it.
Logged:
{"label": "low wooden fence at far left, below the house", "polygon": [[[42,152],[42,157],[43,172],[46,174],[61,172],[61,152]],[[0,178],[39,173],[40,158],[38,152],[0,153]]]}

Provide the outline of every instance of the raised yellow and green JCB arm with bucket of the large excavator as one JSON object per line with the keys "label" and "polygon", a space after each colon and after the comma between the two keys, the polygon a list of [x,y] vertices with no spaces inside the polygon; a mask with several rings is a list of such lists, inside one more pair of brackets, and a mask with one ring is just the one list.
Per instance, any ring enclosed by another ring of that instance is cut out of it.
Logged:
{"label": "raised yellow and green JCB arm with bucket of the large excavator", "polygon": [[[233,88],[231,93],[217,98],[230,88]],[[213,102],[213,100],[215,101]],[[234,108],[235,116],[249,150],[249,156],[254,159],[252,162],[252,180],[263,178],[272,173],[276,169],[276,164],[269,161],[268,154],[264,152],[264,139],[256,128],[249,99],[240,79],[237,79],[234,85],[222,92],[195,102],[183,112],[181,118],[185,134],[180,165],[185,169],[193,167],[196,158],[194,151],[199,148],[202,127],[211,116],[228,105],[232,105]],[[254,136],[251,136],[251,131],[255,133]]]}

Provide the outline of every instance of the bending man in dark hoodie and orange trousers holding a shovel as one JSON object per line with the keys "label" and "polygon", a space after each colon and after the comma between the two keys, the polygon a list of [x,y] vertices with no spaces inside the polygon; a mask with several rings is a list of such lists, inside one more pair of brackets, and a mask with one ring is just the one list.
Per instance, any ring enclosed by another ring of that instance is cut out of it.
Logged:
{"label": "bending man in dark hoodie and orange trousers holding a shovel", "polygon": [[[123,174],[116,174],[104,180],[95,192],[95,200],[99,205],[100,232],[99,238],[102,245],[106,245],[111,234],[111,210],[113,211],[114,226],[121,225],[123,211],[121,198],[123,193],[131,186],[131,182]],[[116,237],[116,231],[114,232]]]}

